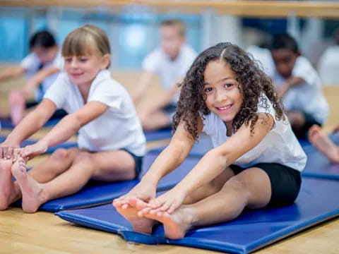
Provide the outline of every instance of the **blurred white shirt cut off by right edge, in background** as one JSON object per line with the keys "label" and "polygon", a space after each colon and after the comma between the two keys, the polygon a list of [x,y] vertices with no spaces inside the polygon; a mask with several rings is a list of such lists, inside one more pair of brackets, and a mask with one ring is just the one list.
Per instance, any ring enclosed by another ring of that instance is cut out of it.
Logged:
{"label": "blurred white shirt cut off by right edge, in background", "polygon": [[339,45],[331,46],[321,55],[318,71],[323,84],[339,85]]}

